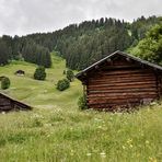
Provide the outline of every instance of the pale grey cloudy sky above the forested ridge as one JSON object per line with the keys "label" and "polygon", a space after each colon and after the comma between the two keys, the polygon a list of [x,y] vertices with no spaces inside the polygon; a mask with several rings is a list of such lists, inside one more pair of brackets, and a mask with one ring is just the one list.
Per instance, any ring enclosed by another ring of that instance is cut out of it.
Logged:
{"label": "pale grey cloudy sky above the forested ridge", "polygon": [[0,0],[0,35],[51,32],[100,18],[162,15],[162,0]]}

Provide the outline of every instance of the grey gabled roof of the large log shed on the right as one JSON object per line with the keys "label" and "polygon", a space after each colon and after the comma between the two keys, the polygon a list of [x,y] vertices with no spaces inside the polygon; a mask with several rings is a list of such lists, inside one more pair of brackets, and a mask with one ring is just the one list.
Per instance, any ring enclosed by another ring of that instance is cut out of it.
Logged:
{"label": "grey gabled roof of the large log shed on the right", "polygon": [[146,66],[149,66],[149,67],[151,67],[151,68],[153,68],[153,69],[157,69],[157,70],[161,70],[161,71],[162,71],[162,67],[161,67],[161,66],[158,66],[158,65],[155,65],[155,63],[151,63],[151,62],[149,62],[149,61],[142,60],[142,59],[140,59],[140,58],[138,58],[138,57],[135,57],[135,56],[132,56],[132,55],[130,55],[130,54],[126,54],[126,53],[123,53],[123,51],[117,50],[117,51],[115,51],[115,53],[113,53],[113,54],[106,56],[105,58],[99,60],[97,62],[91,65],[90,67],[85,68],[84,70],[82,70],[81,72],[79,72],[76,77],[77,77],[78,79],[80,79],[80,77],[82,77],[84,73],[89,72],[90,70],[95,69],[96,66],[102,65],[102,63],[105,62],[107,59],[111,59],[112,57],[117,56],[117,55],[118,55],[118,56],[124,56],[124,57],[129,58],[129,59],[132,59],[132,60],[135,60],[135,61],[137,61],[137,62],[139,62],[139,63],[141,63],[141,65],[146,65]]}

